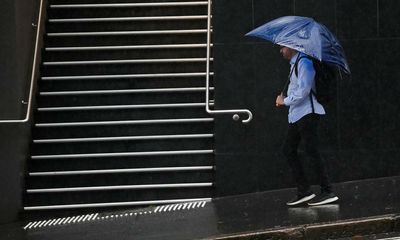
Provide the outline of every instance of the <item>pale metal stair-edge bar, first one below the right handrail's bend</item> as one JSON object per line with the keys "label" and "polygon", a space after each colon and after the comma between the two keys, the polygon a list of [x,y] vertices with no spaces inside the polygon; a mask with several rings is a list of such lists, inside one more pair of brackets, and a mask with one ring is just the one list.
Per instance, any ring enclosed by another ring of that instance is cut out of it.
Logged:
{"label": "pale metal stair-edge bar, first one below the right handrail's bend", "polygon": [[64,123],[36,123],[36,127],[82,127],[82,126],[113,126],[113,125],[146,125],[166,123],[199,123],[212,122],[214,118],[184,118],[184,119],[153,119],[128,121],[99,121],[99,122],[64,122]]}

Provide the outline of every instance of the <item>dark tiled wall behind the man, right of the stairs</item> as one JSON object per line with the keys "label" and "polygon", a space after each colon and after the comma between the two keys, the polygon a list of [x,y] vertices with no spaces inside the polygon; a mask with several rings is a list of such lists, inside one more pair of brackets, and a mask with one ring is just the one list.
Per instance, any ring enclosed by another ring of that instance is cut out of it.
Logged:
{"label": "dark tiled wall behind the man, right of the stairs", "polygon": [[399,9],[395,0],[214,1],[216,109],[248,108],[254,114],[248,125],[230,115],[217,117],[217,196],[294,186],[281,154],[287,109],[275,107],[289,64],[271,43],[244,37],[285,15],[325,24],[352,70],[337,83],[336,101],[320,126],[332,180],[399,175]]}

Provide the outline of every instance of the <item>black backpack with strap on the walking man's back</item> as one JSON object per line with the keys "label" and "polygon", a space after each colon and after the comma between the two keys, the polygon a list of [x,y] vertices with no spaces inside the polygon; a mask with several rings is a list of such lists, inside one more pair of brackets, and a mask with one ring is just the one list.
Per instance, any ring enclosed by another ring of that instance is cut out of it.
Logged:
{"label": "black backpack with strap on the walking man's back", "polygon": [[[309,56],[301,56],[297,62],[295,63],[295,74],[297,77],[298,70],[297,70],[297,65],[300,59],[302,58],[308,58],[313,62],[313,66],[315,69],[315,92],[311,89],[311,94],[313,94],[317,101],[322,104],[326,105],[329,102],[332,101],[334,98],[334,94],[332,92],[332,85],[336,83],[337,79],[337,73],[338,70],[336,66],[318,61],[314,58],[311,58]],[[311,96],[310,96],[311,97]]]}

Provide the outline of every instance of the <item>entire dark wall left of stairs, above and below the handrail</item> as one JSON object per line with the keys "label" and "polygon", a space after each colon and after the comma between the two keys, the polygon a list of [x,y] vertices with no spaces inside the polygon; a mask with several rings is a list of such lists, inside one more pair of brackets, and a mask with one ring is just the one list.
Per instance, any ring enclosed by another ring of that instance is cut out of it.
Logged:
{"label": "entire dark wall left of stairs, above and below the handrail", "polygon": [[[3,0],[0,8],[0,121],[24,119],[39,1]],[[0,122],[0,223],[22,210],[29,123]]]}

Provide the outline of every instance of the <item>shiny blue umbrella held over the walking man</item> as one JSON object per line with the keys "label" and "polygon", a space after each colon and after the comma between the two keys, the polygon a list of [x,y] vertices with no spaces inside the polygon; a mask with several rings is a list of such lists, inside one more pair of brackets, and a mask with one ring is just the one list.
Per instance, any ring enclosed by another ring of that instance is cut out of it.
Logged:
{"label": "shiny blue umbrella held over the walking man", "polygon": [[248,32],[246,36],[259,37],[295,49],[320,61],[337,65],[350,74],[339,41],[328,28],[312,18],[298,16],[277,18]]}

